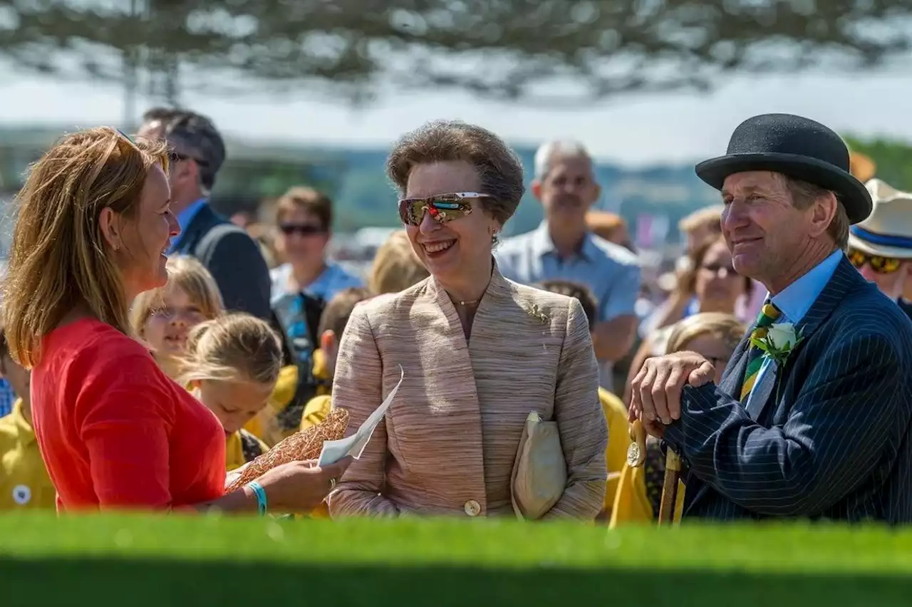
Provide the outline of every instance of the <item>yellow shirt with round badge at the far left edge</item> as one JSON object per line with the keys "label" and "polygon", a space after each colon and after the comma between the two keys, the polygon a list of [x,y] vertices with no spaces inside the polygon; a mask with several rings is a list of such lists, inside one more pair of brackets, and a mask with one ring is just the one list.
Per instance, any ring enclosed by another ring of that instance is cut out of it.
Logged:
{"label": "yellow shirt with round badge at the far left edge", "polygon": [[47,476],[35,430],[22,415],[22,399],[0,417],[0,510],[54,509],[57,490]]}

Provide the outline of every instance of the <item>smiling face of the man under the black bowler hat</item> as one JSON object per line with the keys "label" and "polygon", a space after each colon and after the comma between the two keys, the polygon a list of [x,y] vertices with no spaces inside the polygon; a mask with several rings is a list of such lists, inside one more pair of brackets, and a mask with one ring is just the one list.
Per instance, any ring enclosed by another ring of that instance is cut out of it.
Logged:
{"label": "smiling face of the man under the black bowler hat", "polygon": [[730,175],[722,200],[722,234],[735,271],[768,288],[799,264],[822,231],[815,206],[795,208],[785,180],[769,171]]}

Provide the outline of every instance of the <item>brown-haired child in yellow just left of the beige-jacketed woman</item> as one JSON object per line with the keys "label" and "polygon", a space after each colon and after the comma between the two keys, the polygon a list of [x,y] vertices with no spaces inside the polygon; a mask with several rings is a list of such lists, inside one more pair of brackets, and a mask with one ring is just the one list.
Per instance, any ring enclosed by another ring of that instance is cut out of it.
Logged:
{"label": "brown-haired child in yellow just left of the beige-jacketed woman", "polygon": [[370,296],[367,289],[352,287],[339,291],[329,300],[323,314],[320,315],[320,324],[317,334],[320,336],[320,347],[314,352],[314,377],[322,384],[319,391],[304,407],[301,416],[301,429],[316,426],[329,415],[332,408],[331,386],[333,375],[336,372],[336,359],[339,354],[339,339],[348,324],[348,317],[352,310]]}

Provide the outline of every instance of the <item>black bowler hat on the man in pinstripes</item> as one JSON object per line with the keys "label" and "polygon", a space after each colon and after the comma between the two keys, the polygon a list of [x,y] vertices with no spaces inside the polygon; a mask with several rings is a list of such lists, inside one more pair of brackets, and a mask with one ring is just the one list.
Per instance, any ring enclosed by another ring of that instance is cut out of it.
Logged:
{"label": "black bowler hat on the man in pinstripes", "polygon": [[833,190],[849,221],[871,214],[871,194],[849,172],[849,150],[836,133],[810,118],[762,114],[748,118],[731,134],[725,156],[697,165],[697,176],[716,190],[725,178],[748,170],[772,170]]}

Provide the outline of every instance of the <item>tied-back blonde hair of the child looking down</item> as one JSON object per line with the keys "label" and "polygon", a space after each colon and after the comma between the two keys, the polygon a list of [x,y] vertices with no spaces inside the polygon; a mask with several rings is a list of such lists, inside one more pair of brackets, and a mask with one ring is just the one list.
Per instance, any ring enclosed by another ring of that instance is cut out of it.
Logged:
{"label": "tied-back blonde hair of the child looking down", "polygon": [[275,385],[282,368],[282,341],[264,320],[225,314],[197,324],[187,336],[179,381],[251,381]]}

